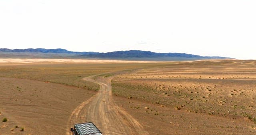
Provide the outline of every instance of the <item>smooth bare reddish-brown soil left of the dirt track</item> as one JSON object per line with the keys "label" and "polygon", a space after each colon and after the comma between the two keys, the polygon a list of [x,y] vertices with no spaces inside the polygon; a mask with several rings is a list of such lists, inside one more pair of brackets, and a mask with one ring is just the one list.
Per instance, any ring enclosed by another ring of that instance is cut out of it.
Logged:
{"label": "smooth bare reddish-brown soil left of the dirt track", "polygon": [[[95,94],[67,85],[4,77],[0,77],[0,93],[0,135],[63,135],[72,111]],[[4,117],[7,122],[2,122]],[[16,125],[19,128],[14,129]]]}

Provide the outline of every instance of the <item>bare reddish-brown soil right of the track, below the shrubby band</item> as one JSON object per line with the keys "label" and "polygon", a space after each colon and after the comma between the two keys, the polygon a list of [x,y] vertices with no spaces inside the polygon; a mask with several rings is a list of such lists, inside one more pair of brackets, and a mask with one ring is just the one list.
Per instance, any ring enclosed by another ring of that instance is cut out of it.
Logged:
{"label": "bare reddish-brown soil right of the track, below the shrubby band", "polygon": [[184,109],[161,107],[118,96],[114,96],[113,99],[151,135],[255,135],[256,133],[254,123],[246,118],[230,119],[188,112]]}

